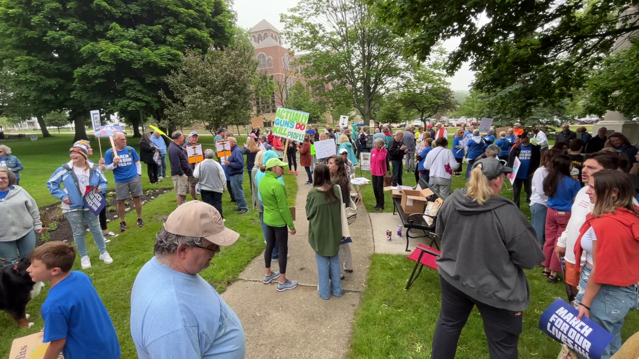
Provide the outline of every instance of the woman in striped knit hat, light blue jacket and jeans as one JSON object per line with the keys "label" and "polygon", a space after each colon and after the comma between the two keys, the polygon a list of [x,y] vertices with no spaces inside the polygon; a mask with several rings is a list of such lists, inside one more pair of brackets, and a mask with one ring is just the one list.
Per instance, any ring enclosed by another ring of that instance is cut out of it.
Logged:
{"label": "woman in striped knit hat, light blue jacket and jeans", "polygon": [[[104,244],[104,236],[100,229],[100,220],[94,215],[86,203],[84,195],[91,191],[98,194],[107,189],[107,179],[98,165],[87,159],[89,151],[85,146],[75,145],[70,150],[71,160],[63,164],[49,178],[47,188],[51,195],[62,201],[62,211],[71,225],[73,241],[80,254],[82,269],[91,268],[91,261],[84,243],[84,220],[93,234],[93,240],[100,251],[100,260],[105,264],[113,263]],[[63,188],[64,185],[64,188]]]}

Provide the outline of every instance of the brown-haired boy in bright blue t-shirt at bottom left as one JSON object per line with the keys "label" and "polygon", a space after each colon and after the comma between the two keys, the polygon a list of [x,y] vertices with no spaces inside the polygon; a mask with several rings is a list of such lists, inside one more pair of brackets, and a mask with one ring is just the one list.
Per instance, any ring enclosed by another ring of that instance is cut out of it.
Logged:
{"label": "brown-haired boy in bright blue t-shirt at bottom left", "polygon": [[50,241],[31,252],[27,269],[34,282],[51,287],[40,312],[44,319],[43,342],[50,343],[45,358],[118,359],[118,335],[107,309],[88,275],[71,271],[75,248]]}

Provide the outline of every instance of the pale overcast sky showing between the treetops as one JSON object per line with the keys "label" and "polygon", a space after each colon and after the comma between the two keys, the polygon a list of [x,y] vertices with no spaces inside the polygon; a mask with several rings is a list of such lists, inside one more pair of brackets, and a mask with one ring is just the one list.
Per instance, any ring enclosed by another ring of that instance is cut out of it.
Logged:
{"label": "pale overcast sky showing between the treetops", "polygon": [[[238,25],[249,29],[255,26],[262,19],[270,22],[277,27],[279,31],[284,29],[284,25],[280,22],[279,15],[288,11],[298,3],[298,0],[277,0],[277,1],[258,1],[258,0],[235,0],[235,11],[238,14]],[[453,50],[457,47],[459,40],[447,40],[443,43],[446,50]],[[474,75],[470,71],[468,64],[464,64],[461,69],[449,78],[450,88],[453,90],[470,90],[470,83],[473,81]]]}

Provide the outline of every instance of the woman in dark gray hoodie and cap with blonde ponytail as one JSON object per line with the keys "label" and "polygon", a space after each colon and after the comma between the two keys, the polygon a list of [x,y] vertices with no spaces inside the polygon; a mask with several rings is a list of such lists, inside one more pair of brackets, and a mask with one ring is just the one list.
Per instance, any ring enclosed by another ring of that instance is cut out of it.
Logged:
{"label": "woman in dark gray hoodie and cap with blonde ponytail", "polygon": [[453,359],[461,330],[475,305],[484,321],[490,358],[517,359],[523,310],[530,287],[523,269],[544,260],[535,229],[499,192],[505,161],[477,160],[465,189],[453,192],[437,216],[442,239],[437,260],[442,310],[431,358]]}

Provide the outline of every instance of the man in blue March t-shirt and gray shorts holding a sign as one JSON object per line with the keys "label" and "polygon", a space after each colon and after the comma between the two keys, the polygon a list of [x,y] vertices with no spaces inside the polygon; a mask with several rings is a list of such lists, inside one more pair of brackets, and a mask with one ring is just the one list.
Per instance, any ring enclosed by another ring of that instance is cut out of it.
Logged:
{"label": "man in blue March t-shirt and gray shorts holding a sign", "polygon": [[[116,199],[118,199],[118,217],[120,218],[120,232],[127,230],[127,222],[124,220],[124,201],[133,197],[135,212],[137,212],[137,226],[142,227],[142,165],[140,157],[135,148],[127,146],[127,137],[116,132],[113,135],[113,142],[116,144],[117,154],[113,149],[107,149],[104,158],[100,159],[100,164],[104,164],[107,171],[113,171],[113,178],[116,183]],[[104,160],[104,162],[103,162]]]}

